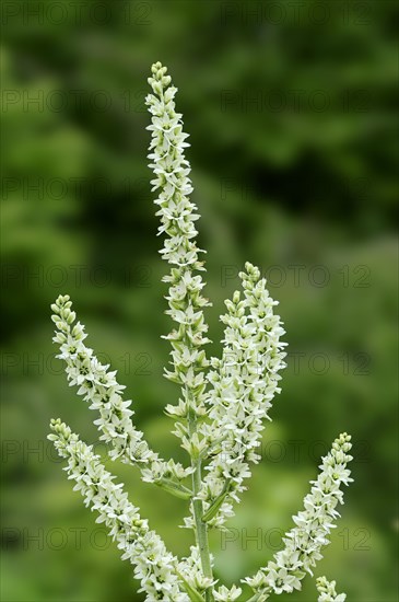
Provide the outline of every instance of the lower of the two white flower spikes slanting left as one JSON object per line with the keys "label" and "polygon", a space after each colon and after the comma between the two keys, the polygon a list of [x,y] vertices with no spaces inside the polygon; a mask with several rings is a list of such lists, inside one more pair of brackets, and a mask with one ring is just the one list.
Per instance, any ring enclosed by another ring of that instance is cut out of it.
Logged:
{"label": "lower of the two white flower spikes slanting left", "polygon": [[78,435],[60,419],[51,420],[52,435],[48,436],[59,455],[68,460],[64,468],[70,479],[75,481],[74,490],[84,497],[85,506],[98,512],[96,522],[104,522],[109,534],[134,566],[134,577],[141,582],[139,591],[145,592],[148,601],[166,600],[187,602],[187,593],[180,590],[176,574],[177,559],[167,552],[161,537],[141,519],[139,508],[128,501],[122,485],[114,483],[95,455],[91,445],[80,441]]}

